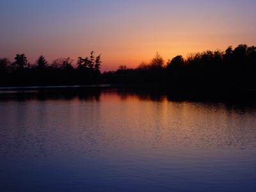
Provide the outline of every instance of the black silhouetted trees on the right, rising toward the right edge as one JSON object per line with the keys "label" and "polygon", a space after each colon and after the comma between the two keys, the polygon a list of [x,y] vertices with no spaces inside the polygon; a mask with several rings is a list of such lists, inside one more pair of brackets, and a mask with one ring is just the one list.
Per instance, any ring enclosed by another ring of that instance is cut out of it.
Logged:
{"label": "black silhouetted trees on the right, rising toward the right edge", "polygon": [[223,51],[204,51],[181,55],[164,62],[159,53],[137,68],[122,65],[113,72],[104,72],[112,83],[147,84],[184,89],[244,90],[255,89],[256,47],[241,44]]}

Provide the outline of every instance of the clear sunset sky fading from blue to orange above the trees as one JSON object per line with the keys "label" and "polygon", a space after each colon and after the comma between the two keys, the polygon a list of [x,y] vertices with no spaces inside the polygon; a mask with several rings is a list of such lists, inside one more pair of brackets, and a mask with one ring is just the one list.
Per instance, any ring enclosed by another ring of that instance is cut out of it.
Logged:
{"label": "clear sunset sky fading from blue to orange above the trees", "polygon": [[102,70],[256,45],[255,0],[0,0],[0,57],[33,63],[90,51]]}

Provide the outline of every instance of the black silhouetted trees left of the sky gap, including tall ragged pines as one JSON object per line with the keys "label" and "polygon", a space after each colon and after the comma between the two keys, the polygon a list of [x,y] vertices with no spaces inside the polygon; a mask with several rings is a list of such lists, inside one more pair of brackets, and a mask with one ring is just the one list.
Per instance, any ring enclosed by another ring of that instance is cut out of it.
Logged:
{"label": "black silhouetted trees left of the sky gap, including tall ragged pines", "polygon": [[40,56],[34,64],[25,54],[16,54],[14,62],[0,58],[0,85],[63,85],[94,84],[100,81],[102,61],[94,52],[90,56],[77,58],[76,66],[71,58],[58,58],[48,63]]}

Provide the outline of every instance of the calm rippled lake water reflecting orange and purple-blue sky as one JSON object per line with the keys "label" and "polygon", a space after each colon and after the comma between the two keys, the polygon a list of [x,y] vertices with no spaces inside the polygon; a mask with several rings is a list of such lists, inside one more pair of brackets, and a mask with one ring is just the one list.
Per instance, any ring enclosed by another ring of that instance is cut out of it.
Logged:
{"label": "calm rippled lake water reflecting orange and purple-blue sky", "polygon": [[24,98],[0,100],[0,191],[256,191],[256,110],[246,104]]}

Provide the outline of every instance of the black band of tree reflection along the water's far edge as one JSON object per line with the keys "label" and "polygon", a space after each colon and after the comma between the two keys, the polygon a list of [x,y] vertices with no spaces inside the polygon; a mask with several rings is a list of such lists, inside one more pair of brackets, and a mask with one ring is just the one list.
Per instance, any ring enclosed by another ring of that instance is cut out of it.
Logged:
{"label": "black band of tree reflection along the water's far edge", "polygon": [[246,109],[255,109],[255,94],[250,93],[193,93],[180,92],[177,90],[166,91],[164,89],[139,89],[139,88],[54,88],[49,90],[33,90],[33,91],[17,91],[17,92],[1,92],[0,102],[6,100],[95,100],[100,102],[102,93],[113,93],[118,95],[121,100],[136,98],[138,100],[151,100],[154,102],[201,102],[209,107],[214,107],[218,103],[223,103],[228,111],[238,110],[240,113],[246,113]]}

